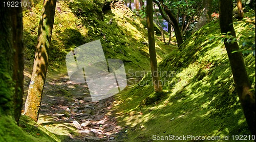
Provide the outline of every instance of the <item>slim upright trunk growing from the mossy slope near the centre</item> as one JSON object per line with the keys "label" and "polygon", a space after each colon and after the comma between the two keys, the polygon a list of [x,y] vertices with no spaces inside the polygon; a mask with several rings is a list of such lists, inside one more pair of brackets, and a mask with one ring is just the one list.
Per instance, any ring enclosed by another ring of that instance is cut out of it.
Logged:
{"label": "slim upright trunk growing from the mossy slope near the centre", "polygon": [[157,69],[157,57],[156,57],[156,47],[155,47],[155,35],[154,35],[154,23],[153,23],[153,1],[146,1],[146,23],[147,23],[147,33],[148,33],[148,49],[150,51],[150,65],[152,73],[152,81],[156,92],[162,92],[162,85],[159,79],[158,69]]}

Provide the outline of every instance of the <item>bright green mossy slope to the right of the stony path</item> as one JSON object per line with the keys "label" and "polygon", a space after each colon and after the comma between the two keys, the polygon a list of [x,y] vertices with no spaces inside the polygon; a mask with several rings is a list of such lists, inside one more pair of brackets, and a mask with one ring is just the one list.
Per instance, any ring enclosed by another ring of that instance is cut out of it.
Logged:
{"label": "bright green mossy slope to the right of the stony path", "polygon": [[[234,25],[236,32],[249,32],[249,27],[240,26],[242,22]],[[153,135],[221,136],[219,141],[229,135],[229,141],[236,141],[231,135],[250,134],[224,43],[209,40],[211,36],[220,36],[219,21],[208,23],[184,41],[182,50],[173,51],[160,62],[163,93],[154,92],[147,74],[140,84],[116,96],[110,113],[118,117],[123,131],[127,130],[129,141],[152,140]],[[254,87],[255,58],[249,54],[244,61]]]}

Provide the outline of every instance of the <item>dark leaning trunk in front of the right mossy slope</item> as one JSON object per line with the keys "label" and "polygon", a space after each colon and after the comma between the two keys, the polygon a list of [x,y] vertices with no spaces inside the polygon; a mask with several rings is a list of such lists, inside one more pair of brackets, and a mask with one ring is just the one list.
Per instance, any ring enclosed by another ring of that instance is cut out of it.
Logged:
{"label": "dark leaning trunk in front of the right mossy slope", "polygon": [[[232,6],[232,0],[220,0],[220,28],[221,33],[231,32],[230,35],[236,37],[232,24]],[[255,94],[251,89],[251,84],[245,69],[242,53],[232,53],[233,51],[239,50],[238,43],[228,43],[226,40],[227,39],[225,39],[224,44],[231,66],[234,84],[236,85],[239,100],[241,102],[250,132],[252,135],[255,135]]]}

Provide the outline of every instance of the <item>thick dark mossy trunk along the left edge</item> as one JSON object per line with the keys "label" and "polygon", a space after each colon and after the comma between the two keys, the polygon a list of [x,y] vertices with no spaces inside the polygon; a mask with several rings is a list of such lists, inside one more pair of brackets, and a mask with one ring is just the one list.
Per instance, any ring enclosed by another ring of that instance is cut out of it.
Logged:
{"label": "thick dark mossy trunk along the left edge", "polygon": [[2,3],[0,17],[0,116],[9,115],[18,123],[24,93],[22,7]]}

